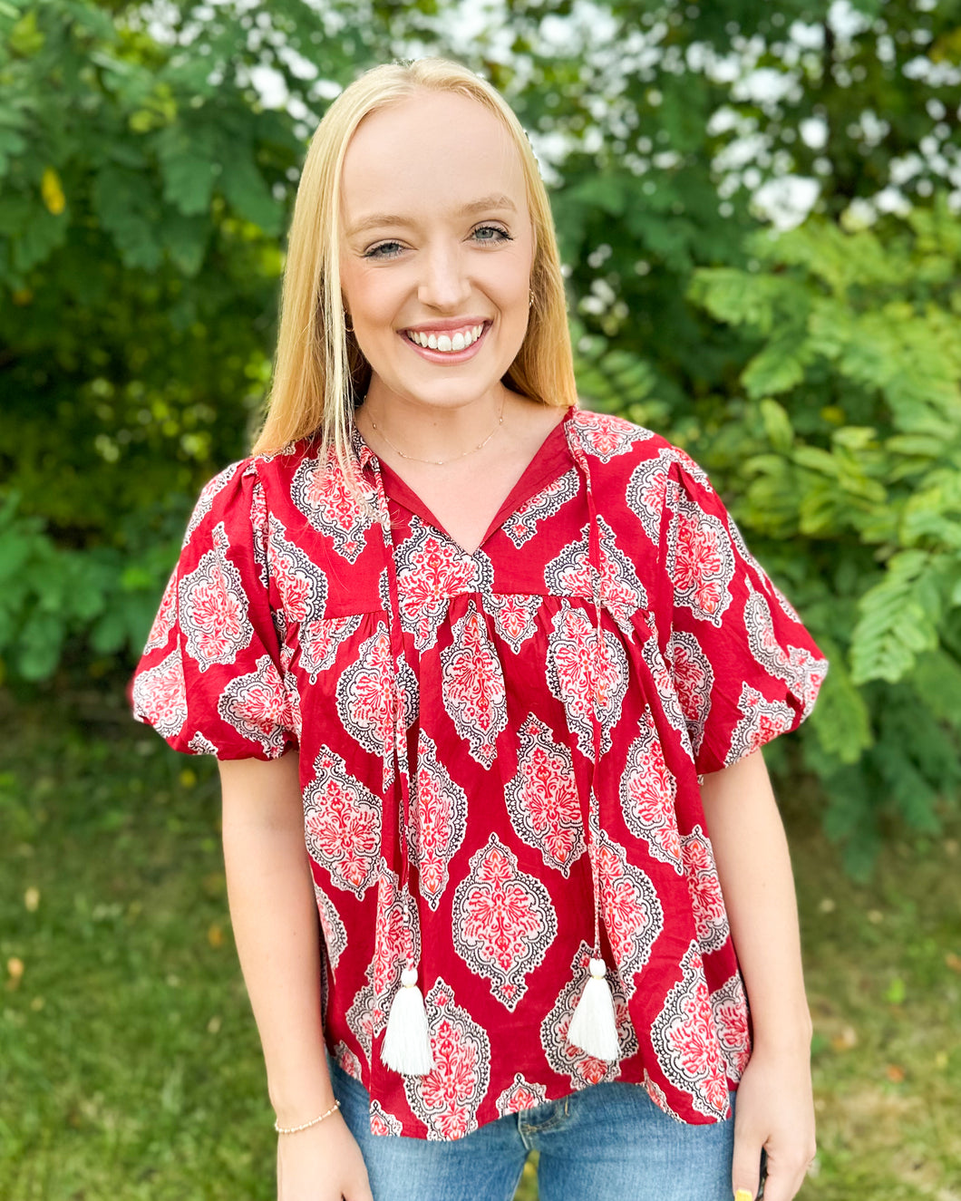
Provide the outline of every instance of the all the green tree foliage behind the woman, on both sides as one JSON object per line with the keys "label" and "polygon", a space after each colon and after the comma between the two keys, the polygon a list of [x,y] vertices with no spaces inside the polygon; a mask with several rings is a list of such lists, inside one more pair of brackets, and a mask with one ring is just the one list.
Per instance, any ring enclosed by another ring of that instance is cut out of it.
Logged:
{"label": "all the green tree foliage behind the woman, on both sides", "polygon": [[[139,650],[269,383],[317,119],[368,65],[453,53],[551,181],[585,400],[704,462],[830,655],[799,746],[849,866],[887,812],[924,825],[961,734],[957,4],[856,0],[844,31],[805,0],[501,0],[470,38],[461,0],[162,7],[166,31],[126,0],[0,0],[8,675]],[[786,174],[818,196],[777,231]]]}

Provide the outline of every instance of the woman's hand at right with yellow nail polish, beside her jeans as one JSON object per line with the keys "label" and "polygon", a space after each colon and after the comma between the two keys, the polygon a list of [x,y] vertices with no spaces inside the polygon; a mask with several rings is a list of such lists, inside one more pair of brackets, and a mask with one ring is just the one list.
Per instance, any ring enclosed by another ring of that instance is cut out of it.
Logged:
{"label": "woman's hand at right with yellow nail polish, beside her jeans", "polygon": [[745,1068],[734,1105],[735,1195],[746,1189],[752,1199],[757,1196],[762,1147],[768,1153],[764,1201],[790,1201],[817,1151],[806,1046],[796,1051],[756,1047]]}

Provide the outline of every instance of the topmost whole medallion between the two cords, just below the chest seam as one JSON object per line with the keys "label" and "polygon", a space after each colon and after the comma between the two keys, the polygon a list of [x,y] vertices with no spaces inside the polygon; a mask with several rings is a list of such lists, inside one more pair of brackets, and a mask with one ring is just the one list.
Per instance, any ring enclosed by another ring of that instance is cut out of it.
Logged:
{"label": "topmost whole medallion between the two cords, just below the chest seam", "polygon": [[507,689],[487,622],[471,600],[441,651],[443,706],[482,767],[490,767],[497,735],[507,725]]}

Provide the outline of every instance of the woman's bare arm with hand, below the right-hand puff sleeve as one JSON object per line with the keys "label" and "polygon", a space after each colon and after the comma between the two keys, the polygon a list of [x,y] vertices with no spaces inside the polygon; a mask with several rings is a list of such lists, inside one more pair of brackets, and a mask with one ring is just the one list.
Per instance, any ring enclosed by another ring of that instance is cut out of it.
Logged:
{"label": "woman's bare arm with hand, below the right-hand puff sleeve", "polygon": [[738,1088],[733,1188],[790,1201],[814,1157],[811,1014],[804,988],[794,877],[760,751],[704,777],[704,815],[754,1034]]}

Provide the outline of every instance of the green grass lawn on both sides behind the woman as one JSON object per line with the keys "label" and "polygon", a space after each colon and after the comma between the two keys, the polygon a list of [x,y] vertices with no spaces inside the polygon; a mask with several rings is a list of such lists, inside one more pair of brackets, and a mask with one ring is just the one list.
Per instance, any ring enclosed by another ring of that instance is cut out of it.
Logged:
{"label": "green grass lawn on both sides behind the woman", "polygon": [[[0,704],[0,1196],[268,1201],[215,765],[168,752],[121,699],[96,722],[78,707]],[[784,812],[816,1026],[800,1196],[961,1201],[961,820],[893,837],[858,885],[810,799]]]}

